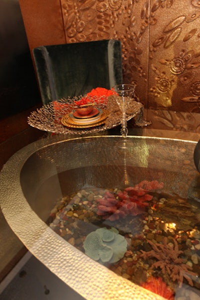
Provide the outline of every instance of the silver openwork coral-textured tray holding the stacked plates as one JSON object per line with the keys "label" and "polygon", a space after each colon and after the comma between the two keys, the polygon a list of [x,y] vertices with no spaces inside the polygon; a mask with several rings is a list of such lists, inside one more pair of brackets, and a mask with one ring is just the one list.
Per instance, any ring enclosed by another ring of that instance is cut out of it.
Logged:
{"label": "silver openwork coral-textured tray holding the stacked plates", "polygon": [[[100,131],[105,131],[107,129],[111,129],[116,127],[120,124],[119,114],[116,114],[116,117],[113,117],[111,111],[107,110],[106,108],[106,100],[104,103],[99,103],[96,101],[96,107],[99,109],[106,110],[107,118],[111,118],[109,123],[106,124],[105,122],[100,122],[94,124],[93,126],[82,126],[83,128],[73,128],[71,126],[64,126],[63,122],[61,121],[64,116],[71,113],[74,106],[74,101],[77,101],[82,96],[73,97],[73,98],[62,98],[56,101],[49,102],[47,105],[42,106],[41,108],[37,109],[36,111],[31,112],[29,117],[27,118],[28,124],[32,127],[35,127],[40,130],[52,132],[52,133],[61,133],[61,134],[71,134],[71,135],[85,135]],[[127,114],[127,120],[132,119],[135,116],[139,116],[139,120],[143,120],[143,113],[142,113],[142,104],[136,101],[134,102],[134,109],[133,112]],[[148,122],[141,122],[137,124],[138,126],[145,126],[148,125]]]}

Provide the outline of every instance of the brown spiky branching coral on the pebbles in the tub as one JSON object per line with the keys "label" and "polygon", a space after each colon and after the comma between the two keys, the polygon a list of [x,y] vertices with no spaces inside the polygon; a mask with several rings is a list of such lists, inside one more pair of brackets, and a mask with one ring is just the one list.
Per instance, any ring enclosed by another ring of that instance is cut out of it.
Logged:
{"label": "brown spiky branching coral on the pebbles in the tub", "polygon": [[196,276],[195,273],[189,271],[191,268],[184,264],[184,259],[180,258],[179,255],[183,252],[178,250],[178,244],[175,239],[173,239],[174,245],[167,244],[167,238],[163,239],[163,244],[153,244],[148,241],[151,245],[152,250],[145,252],[142,251],[141,257],[155,258],[157,261],[151,265],[151,269],[160,268],[162,273],[167,272],[170,278],[175,282],[179,282],[179,287],[182,286],[183,278],[185,278],[190,286],[193,286],[190,276]]}

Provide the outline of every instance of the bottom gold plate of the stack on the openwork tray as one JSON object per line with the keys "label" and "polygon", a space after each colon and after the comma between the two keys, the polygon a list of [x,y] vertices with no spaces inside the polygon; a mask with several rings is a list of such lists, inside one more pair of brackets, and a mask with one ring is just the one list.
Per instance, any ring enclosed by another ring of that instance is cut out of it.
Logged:
{"label": "bottom gold plate of the stack on the openwork tray", "polygon": [[80,124],[78,122],[75,122],[74,119],[72,119],[69,114],[65,115],[61,118],[61,123],[64,126],[70,127],[70,128],[88,128],[88,127],[94,127],[99,126],[105,122],[105,119],[107,118],[108,114],[106,110],[103,110],[101,117],[98,120],[94,120],[93,123],[90,124]]}

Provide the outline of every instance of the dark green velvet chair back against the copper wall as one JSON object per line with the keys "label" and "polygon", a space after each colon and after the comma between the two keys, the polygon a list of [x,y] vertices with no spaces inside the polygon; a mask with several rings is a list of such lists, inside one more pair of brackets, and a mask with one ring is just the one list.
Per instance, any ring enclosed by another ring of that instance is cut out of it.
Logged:
{"label": "dark green velvet chair back against the copper wall", "polygon": [[43,104],[122,83],[118,40],[40,46],[33,57]]}

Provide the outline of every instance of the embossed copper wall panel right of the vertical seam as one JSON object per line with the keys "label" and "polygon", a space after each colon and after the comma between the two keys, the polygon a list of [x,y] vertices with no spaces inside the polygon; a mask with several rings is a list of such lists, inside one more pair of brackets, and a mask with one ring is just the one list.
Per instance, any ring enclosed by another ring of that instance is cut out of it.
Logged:
{"label": "embossed copper wall panel right of the vertical seam", "polygon": [[197,0],[152,1],[148,107],[198,111],[200,95]]}

